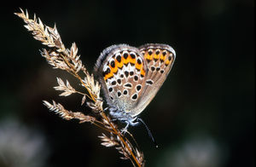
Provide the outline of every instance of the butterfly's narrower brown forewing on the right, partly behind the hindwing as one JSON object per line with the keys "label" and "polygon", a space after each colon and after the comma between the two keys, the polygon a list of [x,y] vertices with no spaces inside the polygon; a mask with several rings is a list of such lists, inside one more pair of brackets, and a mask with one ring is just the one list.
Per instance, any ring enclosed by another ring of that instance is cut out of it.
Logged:
{"label": "butterfly's narrower brown forewing on the right, partly behind the hindwing", "polygon": [[132,117],[143,112],[148,103],[153,100],[171,71],[176,57],[175,50],[166,44],[148,43],[139,47],[139,50],[143,55],[143,62],[146,64],[148,73],[144,78],[143,93],[137,101],[137,106],[131,112]]}

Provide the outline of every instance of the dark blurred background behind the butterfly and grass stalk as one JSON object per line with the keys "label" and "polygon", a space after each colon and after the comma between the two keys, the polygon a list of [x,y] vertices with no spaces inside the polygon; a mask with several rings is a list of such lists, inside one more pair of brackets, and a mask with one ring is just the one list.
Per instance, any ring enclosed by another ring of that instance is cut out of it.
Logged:
{"label": "dark blurred background behind the butterfly and grass stalk", "polygon": [[44,48],[13,14],[19,7],[56,24],[62,42],[76,42],[92,72],[103,49],[116,43],[167,43],[177,59],[166,82],[131,128],[146,166],[255,166],[254,1],[9,1],[1,8],[0,166],[131,166],[102,147],[102,130],[66,121],[43,100],[84,111],[81,97],[59,97]]}

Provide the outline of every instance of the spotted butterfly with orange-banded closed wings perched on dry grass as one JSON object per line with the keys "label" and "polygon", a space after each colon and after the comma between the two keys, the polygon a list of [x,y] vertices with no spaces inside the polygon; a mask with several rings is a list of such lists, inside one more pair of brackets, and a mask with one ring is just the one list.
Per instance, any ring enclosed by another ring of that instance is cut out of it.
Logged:
{"label": "spotted butterfly with orange-banded closed wings perched on dry grass", "polygon": [[171,46],[159,43],[139,48],[118,44],[102,51],[96,61],[96,76],[102,85],[109,114],[126,123],[124,130],[139,121],[143,123],[137,116],[165,82],[175,57]]}

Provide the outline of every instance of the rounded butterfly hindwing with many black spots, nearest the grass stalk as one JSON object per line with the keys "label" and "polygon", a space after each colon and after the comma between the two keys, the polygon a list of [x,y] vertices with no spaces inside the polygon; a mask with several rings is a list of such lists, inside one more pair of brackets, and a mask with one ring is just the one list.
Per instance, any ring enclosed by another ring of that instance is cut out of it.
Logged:
{"label": "rounded butterfly hindwing with many black spots, nearest the grass stalk", "polygon": [[143,94],[148,70],[139,49],[126,44],[103,50],[95,66],[108,106],[131,113]]}

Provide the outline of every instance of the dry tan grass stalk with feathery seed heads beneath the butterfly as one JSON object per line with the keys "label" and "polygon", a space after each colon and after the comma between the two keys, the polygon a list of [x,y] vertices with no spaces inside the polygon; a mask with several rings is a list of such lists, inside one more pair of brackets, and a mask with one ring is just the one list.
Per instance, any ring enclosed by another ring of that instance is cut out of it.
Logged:
{"label": "dry tan grass stalk with feathery seed heads beneath the butterfly", "polygon": [[[108,135],[102,133],[99,136],[102,146],[115,147],[122,154],[121,158],[130,159],[134,166],[144,166],[143,153],[139,151],[137,146],[133,146],[135,144],[132,145],[131,141],[121,133],[117,124],[113,124],[112,118],[108,117],[104,112],[102,107],[103,101],[100,96],[101,85],[84,67],[82,60],[80,60],[80,55],[78,55],[76,44],[73,43],[70,49],[66,49],[56,26],[53,28],[45,26],[42,20],[37,18],[36,15],[34,15],[33,19],[29,19],[27,11],[25,13],[22,9],[20,9],[20,13],[15,14],[24,20],[26,23],[25,27],[29,32],[32,32],[32,36],[48,47],[48,49],[41,50],[41,55],[48,61],[49,65],[72,74],[79,80],[80,85],[87,90],[87,93],[73,89],[68,81],[65,83],[61,78],[57,78],[59,85],[54,87],[54,89],[62,91],[61,96],[68,96],[75,93],[82,95],[81,104],[83,105],[86,101],[86,104],[91,108],[90,112],[94,112],[100,117],[96,118],[90,115],[84,115],[83,112],[68,111],[60,103],[56,103],[55,101],[52,101],[52,103],[44,101],[44,105],[50,111],[59,114],[61,118],[66,120],[79,119],[79,123],[90,122],[102,128],[102,130],[106,130]],[[82,75],[84,78],[81,77]]]}

